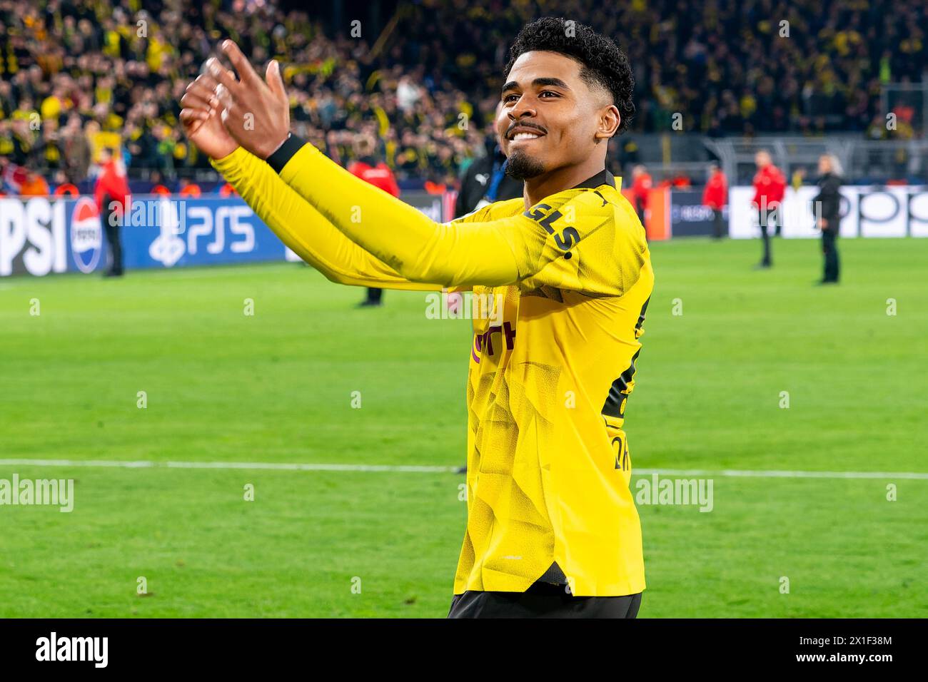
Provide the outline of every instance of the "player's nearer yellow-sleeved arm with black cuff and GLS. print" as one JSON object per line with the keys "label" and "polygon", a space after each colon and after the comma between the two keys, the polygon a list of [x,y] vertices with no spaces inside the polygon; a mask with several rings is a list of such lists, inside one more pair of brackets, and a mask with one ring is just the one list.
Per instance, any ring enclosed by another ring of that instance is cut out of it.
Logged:
{"label": "player's nearer yellow-sleeved arm with black cuff and GLS. print", "polygon": [[439,224],[292,135],[267,161],[346,237],[411,281],[621,295],[646,258],[644,230],[617,193],[607,200],[572,189],[515,216],[491,220],[484,211]]}

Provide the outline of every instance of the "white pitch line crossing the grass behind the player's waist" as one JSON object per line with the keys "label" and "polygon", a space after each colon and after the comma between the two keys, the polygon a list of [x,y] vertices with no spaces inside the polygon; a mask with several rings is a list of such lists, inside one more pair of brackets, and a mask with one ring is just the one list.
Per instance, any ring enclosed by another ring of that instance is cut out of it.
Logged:
{"label": "white pitch line crossing the grass behind the player's waist", "polygon": [[[274,462],[158,462],[153,460],[122,461],[115,459],[0,459],[0,466],[32,467],[97,467],[110,469],[216,469],[216,470],[283,470],[283,471],[388,471],[405,473],[449,473],[458,467],[433,467],[392,464],[302,464]],[[741,478],[796,479],[914,479],[928,481],[924,471],[784,471],[784,470],[702,470],[702,469],[637,469],[636,476],[704,476]]]}

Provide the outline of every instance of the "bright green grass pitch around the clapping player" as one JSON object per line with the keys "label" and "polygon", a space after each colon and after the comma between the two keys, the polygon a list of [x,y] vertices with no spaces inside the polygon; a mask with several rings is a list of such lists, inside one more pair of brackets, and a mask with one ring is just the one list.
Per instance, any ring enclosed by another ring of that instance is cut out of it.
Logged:
{"label": "bright green grass pitch around the clapping player", "polygon": [[[928,239],[840,248],[844,282],[815,288],[812,241],[777,240],[761,272],[756,242],[652,245],[635,467],[928,470]],[[470,323],[427,319],[421,293],[361,297],[298,264],[0,280],[0,458],[463,463]],[[75,479],[75,508],[0,507],[0,617],[450,603],[454,473],[0,465],[14,473]],[[639,506],[641,617],[928,616],[928,481],[714,481],[710,513]]]}

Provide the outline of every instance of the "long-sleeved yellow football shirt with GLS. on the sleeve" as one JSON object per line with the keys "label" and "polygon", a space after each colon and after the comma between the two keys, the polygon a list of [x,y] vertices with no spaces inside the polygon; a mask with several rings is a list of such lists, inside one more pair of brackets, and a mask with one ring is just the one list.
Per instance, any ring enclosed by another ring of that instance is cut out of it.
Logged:
{"label": "long-sleeved yellow football shirt with GLS. on the sleeve", "polygon": [[653,273],[611,174],[438,224],[295,138],[268,162],[239,148],[213,164],[330,279],[489,303],[473,319],[455,594],[539,579],[577,596],[644,589],[622,427]]}

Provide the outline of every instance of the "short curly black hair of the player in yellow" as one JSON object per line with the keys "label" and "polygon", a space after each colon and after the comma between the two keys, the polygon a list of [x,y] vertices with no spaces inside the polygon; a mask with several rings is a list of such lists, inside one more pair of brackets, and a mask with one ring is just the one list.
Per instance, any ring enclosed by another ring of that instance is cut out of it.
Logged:
{"label": "short curly black hair of the player in yellow", "polygon": [[509,73],[516,59],[533,50],[559,52],[579,61],[582,65],[580,78],[612,93],[612,103],[622,116],[616,135],[625,131],[635,115],[632,102],[635,76],[625,53],[612,38],[563,17],[535,19],[522,28],[509,47],[509,63],[503,72]]}

